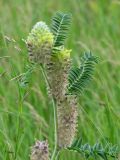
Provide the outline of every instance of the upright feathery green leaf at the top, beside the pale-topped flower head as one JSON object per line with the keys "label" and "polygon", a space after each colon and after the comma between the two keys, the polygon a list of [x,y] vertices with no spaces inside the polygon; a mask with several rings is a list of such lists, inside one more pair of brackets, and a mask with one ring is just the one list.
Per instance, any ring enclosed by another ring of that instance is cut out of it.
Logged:
{"label": "upright feathery green leaf at the top, beside the pale-topped flower head", "polygon": [[67,38],[70,24],[71,14],[57,12],[52,18],[51,30],[54,35],[54,47],[64,45],[64,41]]}

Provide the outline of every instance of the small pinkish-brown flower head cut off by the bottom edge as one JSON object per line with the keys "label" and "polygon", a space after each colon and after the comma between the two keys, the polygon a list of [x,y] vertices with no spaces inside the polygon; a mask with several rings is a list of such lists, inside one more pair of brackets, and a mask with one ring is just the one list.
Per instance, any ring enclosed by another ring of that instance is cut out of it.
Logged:
{"label": "small pinkish-brown flower head cut off by the bottom edge", "polygon": [[30,160],[49,160],[47,141],[37,141],[32,147]]}

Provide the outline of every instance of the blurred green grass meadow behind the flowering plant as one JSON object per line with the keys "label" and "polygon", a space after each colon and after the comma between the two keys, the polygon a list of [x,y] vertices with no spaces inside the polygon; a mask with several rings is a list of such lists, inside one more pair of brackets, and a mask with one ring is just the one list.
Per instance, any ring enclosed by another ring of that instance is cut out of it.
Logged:
{"label": "blurred green grass meadow behind the flowering plant", "polygon": [[[78,135],[91,145],[109,140],[120,146],[120,1],[0,0],[0,160],[28,160],[35,139],[47,138],[53,148],[53,108],[41,71],[32,75],[24,97],[10,80],[25,70],[28,53],[22,39],[37,21],[50,25],[56,11],[73,15],[66,45],[74,62],[89,50],[101,59],[80,96]],[[82,157],[62,151],[61,160]]]}

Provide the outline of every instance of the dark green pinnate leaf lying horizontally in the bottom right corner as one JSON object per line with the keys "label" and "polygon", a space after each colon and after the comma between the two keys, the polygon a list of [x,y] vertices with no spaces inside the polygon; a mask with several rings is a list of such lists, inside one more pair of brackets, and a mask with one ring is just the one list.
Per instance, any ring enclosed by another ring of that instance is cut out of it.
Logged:
{"label": "dark green pinnate leaf lying horizontally in the bottom right corner", "polygon": [[118,149],[117,146],[111,146],[111,144],[107,144],[108,151],[106,151],[106,146],[103,147],[101,143],[96,143],[91,146],[89,143],[82,145],[82,139],[76,139],[71,147],[67,149],[76,151],[79,154],[83,154],[86,159],[96,160],[97,157],[101,157],[103,160],[108,160],[110,157],[116,159],[118,157]]}

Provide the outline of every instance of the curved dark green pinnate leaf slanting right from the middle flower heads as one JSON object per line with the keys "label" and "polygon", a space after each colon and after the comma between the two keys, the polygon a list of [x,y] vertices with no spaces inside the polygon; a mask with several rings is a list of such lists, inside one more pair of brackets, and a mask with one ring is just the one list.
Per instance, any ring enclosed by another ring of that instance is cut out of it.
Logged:
{"label": "curved dark green pinnate leaf slanting right from the middle flower heads", "polygon": [[83,92],[87,84],[92,79],[97,57],[90,53],[85,53],[81,58],[81,66],[74,67],[69,72],[69,85],[67,94],[78,95]]}

